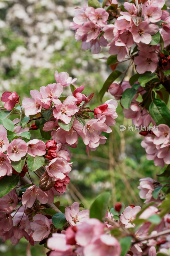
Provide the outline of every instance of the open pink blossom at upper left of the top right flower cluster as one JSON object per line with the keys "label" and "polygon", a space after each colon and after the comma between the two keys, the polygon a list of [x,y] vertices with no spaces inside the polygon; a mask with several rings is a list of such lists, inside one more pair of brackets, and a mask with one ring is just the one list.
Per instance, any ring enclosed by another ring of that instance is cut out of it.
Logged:
{"label": "open pink blossom at upper left of the top right flower cluster", "polygon": [[89,7],[86,9],[85,13],[92,22],[97,23],[100,27],[107,25],[109,14],[105,11],[105,9],[94,9],[93,7]]}

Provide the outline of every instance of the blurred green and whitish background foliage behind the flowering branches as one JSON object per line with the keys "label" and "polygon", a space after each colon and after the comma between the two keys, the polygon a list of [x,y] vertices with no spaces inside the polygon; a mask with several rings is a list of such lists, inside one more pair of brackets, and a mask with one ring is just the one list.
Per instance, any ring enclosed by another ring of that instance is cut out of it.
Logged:
{"label": "blurred green and whitish background foliage behind the flowering branches", "polygon": [[[91,109],[113,98],[106,93],[100,102],[98,96],[103,82],[112,72],[104,59],[108,57],[108,49],[102,49],[96,55],[90,50],[82,51],[81,42],[76,42],[74,31],[69,28],[74,8],[83,4],[87,4],[87,1],[0,1],[1,94],[16,91],[22,102],[25,97],[30,97],[30,90],[39,90],[41,86],[54,83],[57,70],[76,77],[75,85],[84,85],[86,95],[95,93]],[[118,69],[124,70],[124,67]],[[64,93],[69,95],[70,88],[65,88]],[[89,208],[94,198],[103,191],[111,192],[111,206],[116,202],[122,202],[125,206],[141,205],[137,189],[139,179],[157,179],[156,173],[162,172],[160,167],[155,167],[152,161],[146,159],[144,148],[140,146],[143,138],[137,131],[126,129],[120,132],[120,125],[128,127],[131,120],[124,118],[119,102],[116,112],[116,124],[112,133],[105,134],[105,145],[100,145],[95,152],[91,151],[90,157],[81,139],[78,148],[71,149],[71,181],[66,193],[59,198],[61,205],[82,202]],[[10,240],[5,243],[0,241],[0,255],[43,256],[45,248],[36,244],[29,249],[24,238],[16,246],[12,246]]]}

